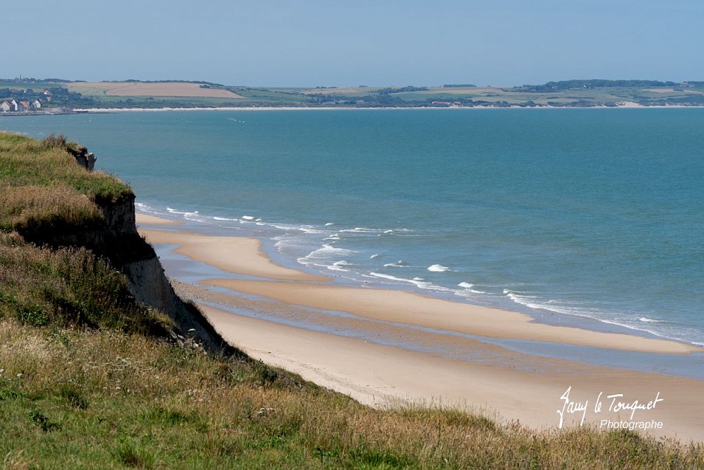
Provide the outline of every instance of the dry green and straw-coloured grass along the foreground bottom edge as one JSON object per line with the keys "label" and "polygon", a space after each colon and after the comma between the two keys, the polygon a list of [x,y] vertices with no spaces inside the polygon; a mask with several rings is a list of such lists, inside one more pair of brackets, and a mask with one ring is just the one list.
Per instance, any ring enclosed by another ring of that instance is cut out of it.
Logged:
{"label": "dry green and straw-coloured grass along the foreground bottom edge", "polygon": [[370,409],[260,363],[111,329],[2,321],[0,369],[0,456],[26,467],[704,465],[701,445],[630,432],[537,432],[449,409]]}

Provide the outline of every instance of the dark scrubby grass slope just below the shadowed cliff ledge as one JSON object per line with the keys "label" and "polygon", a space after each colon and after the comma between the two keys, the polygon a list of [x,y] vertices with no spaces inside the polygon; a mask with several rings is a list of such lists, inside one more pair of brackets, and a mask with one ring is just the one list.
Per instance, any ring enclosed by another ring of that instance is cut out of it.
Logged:
{"label": "dark scrubby grass slope just below the shadowed cliff ledge", "polygon": [[165,316],[137,304],[127,280],[85,248],[37,247],[0,234],[0,319],[30,326],[163,331]]}

